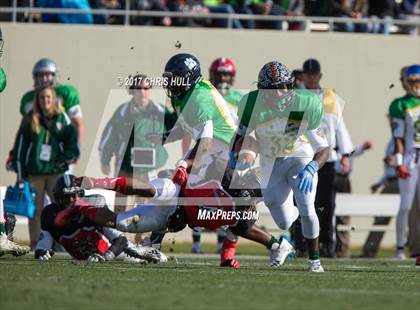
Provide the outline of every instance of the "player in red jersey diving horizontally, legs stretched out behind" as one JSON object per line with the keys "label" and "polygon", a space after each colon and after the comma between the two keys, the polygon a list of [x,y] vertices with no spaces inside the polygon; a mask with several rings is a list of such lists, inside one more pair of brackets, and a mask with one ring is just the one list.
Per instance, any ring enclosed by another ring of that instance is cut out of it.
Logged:
{"label": "player in red jersey diving horizontally, legs stretched out behind", "polygon": [[[246,239],[263,244],[270,250],[270,265],[279,267],[284,264],[289,254],[293,254],[293,247],[286,239],[280,239],[266,233],[255,225],[255,220],[247,220],[242,217],[237,220],[216,218],[200,219],[201,210],[213,209],[214,212],[222,209],[223,211],[244,212],[249,208],[235,206],[231,196],[221,187],[217,181],[209,181],[196,187],[177,186],[169,178],[159,178],[152,180],[148,184],[142,184],[132,179],[101,178],[92,177],[78,178],[77,185],[83,188],[102,188],[117,191],[126,195],[139,195],[145,198],[159,200],[175,200],[181,191],[183,205],[174,207],[172,201],[168,205],[141,205],[123,213],[114,213],[108,209],[97,208],[95,206],[75,206],[67,209],[66,217],[71,217],[72,213],[80,213],[90,218],[99,225],[115,227],[124,232],[150,232],[150,231],[170,231],[177,232],[189,225],[190,227],[203,227],[215,230],[222,226],[228,226],[228,237],[223,243],[221,252],[221,266],[239,267],[239,263],[234,259],[236,248],[236,237],[241,236]],[[206,207],[199,207],[206,202]],[[251,204],[252,205],[252,204]],[[66,221],[65,218],[62,219]]]}

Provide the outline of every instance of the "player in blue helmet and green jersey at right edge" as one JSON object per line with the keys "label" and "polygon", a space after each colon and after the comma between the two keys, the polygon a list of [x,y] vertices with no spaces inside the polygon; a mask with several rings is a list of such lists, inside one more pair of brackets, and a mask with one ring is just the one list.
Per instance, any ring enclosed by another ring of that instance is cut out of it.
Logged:
{"label": "player in blue helmet and green jersey at right edge", "polygon": [[420,194],[420,65],[408,67],[405,76],[407,94],[395,99],[389,107],[401,196],[396,221],[395,254],[400,259],[405,258],[404,244],[408,214],[416,193],[417,196]]}

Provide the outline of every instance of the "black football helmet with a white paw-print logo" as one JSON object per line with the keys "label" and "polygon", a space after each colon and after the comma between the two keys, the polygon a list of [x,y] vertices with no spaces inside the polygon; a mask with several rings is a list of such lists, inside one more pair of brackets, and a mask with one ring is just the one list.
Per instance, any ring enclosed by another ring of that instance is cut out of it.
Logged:
{"label": "black football helmet with a white paw-print logo", "polygon": [[182,98],[200,81],[200,62],[191,54],[176,54],[166,63],[163,78],[168,97]]}

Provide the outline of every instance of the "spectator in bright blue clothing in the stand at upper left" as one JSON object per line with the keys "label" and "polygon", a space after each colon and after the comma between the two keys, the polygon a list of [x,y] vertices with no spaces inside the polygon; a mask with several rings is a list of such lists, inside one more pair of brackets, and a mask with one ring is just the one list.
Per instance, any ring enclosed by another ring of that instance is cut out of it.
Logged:
{"label": "spectator in bright blue clothing in the stand at upper left", "polygon": [[[91,10],[88,0],[37,0],[36,5],[41,8],[62,8]],[[44,23],[63,24],[92,24],[93,16],[86,14],[42,14]]]}

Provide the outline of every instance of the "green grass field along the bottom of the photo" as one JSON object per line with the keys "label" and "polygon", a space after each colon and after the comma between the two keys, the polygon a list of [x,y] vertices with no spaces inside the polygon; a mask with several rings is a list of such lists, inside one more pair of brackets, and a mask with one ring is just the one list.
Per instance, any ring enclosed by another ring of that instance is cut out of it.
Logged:
{"label": "green grass field along the bottom of the photo", "polygon": [[324,274],[294,259],[279,269],[264,256],[175,254],[160,265],[87,264],[65,255],[0,258],[0,309],[419,309],[413,260],[323,260]]}

